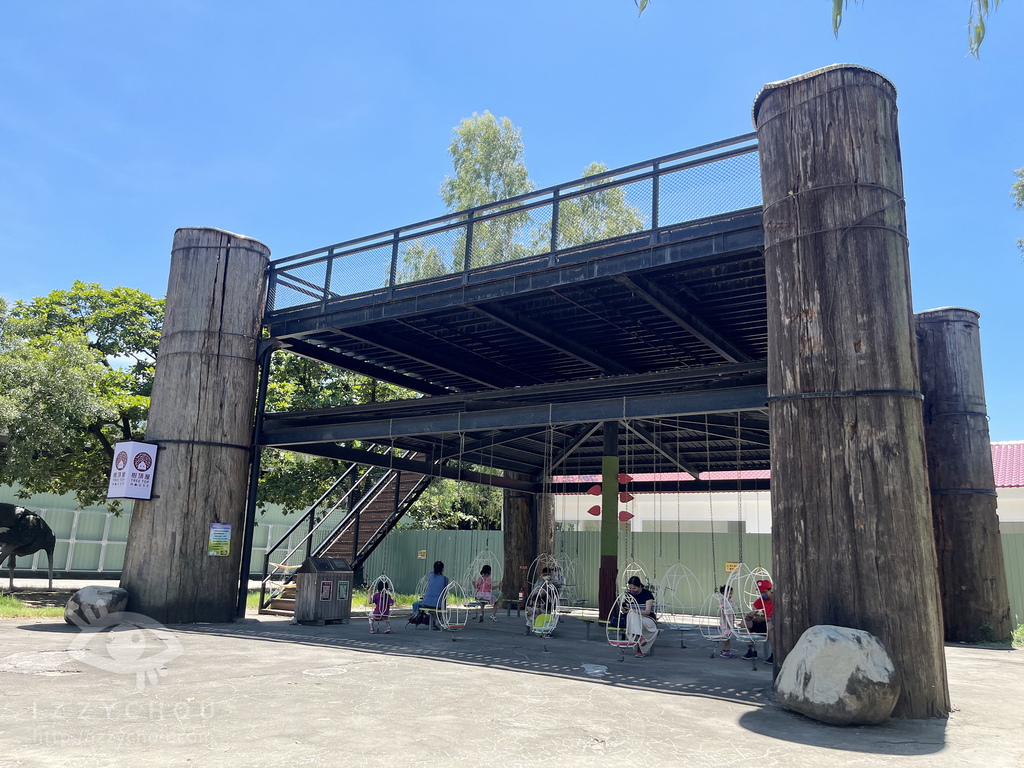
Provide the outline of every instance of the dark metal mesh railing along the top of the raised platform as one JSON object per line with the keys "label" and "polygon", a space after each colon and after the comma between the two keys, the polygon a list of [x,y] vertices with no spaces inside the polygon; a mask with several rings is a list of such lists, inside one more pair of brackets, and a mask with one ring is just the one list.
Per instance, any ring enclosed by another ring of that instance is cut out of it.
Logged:
{"label": "dark metal mesh railing along the top of the raised platform", "polygon": [[755,133],[270,263],[267,312],[478,272],[761,205]]}

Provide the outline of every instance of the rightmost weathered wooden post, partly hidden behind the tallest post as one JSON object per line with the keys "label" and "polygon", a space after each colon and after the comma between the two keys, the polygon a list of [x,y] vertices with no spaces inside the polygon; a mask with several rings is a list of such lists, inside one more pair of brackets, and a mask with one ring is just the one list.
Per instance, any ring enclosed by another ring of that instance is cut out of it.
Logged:
{"label": "rightmost weathered wooden post, partly hidden behind the tallest post", "polygon": [[914,315],[948,642],[1002,640],[1013,631],[995,513],[978,316],[961,307]]}

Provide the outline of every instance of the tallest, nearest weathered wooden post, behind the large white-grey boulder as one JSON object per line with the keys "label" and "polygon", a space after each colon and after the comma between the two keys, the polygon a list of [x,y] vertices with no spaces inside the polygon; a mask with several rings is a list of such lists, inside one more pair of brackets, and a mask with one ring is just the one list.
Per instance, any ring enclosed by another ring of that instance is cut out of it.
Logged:
{"label": "tallest, nearest weathered wooden post, behind the large white-grey boulder", "polygon": [[897,717],[949,712],[896,89],[837,65],[754,103],[764,198],[775,657],[866,630]]}

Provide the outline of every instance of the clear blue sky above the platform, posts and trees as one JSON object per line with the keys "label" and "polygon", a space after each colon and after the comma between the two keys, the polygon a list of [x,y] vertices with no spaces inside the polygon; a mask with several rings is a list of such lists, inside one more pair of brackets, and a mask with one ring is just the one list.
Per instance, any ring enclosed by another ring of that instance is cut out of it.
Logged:
{"label": "clear blue sky above the platform, posts and trees", "polygon": [[[163,295],[178,226],[274,257],[442,212],[452,128],[522,129],[539,185],[752,130],[761,85],[847,61],[899,90],[914,308],[981,312],[993,439],[1024,439],[1024,3],[0,5],[0,295]],[[893,7],[897,6],[897,7]]]}

